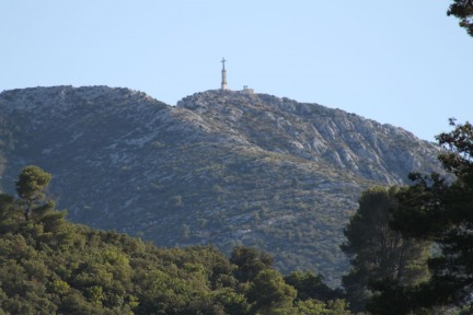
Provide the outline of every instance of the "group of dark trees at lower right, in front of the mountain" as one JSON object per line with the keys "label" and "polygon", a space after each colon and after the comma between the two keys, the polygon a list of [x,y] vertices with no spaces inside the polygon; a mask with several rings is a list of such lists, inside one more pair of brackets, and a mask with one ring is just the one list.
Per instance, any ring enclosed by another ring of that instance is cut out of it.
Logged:
{"label": "group of dark trees at lower right, in front of the mountain", "polygon": [[450,177],[413,173],[409,187],[362,194],[342,246],[351,264],[343,279],[351,311],[472,314],[473,126],[451,125],[437,136]]}

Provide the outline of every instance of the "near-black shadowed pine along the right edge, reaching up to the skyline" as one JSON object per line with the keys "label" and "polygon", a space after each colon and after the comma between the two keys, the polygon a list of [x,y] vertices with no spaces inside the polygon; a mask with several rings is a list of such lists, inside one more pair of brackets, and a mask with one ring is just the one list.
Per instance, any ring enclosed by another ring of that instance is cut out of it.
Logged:
{"label": "near-black shadowed pine along the right edge, reaching up to the skyline", "polygon": [[434,241],[440,249],[428,261],[430,280],[408,294],[416,296],[409,300],[412,310],[473,306],[473,127],[454,119],[450,124],[454,129],[436,139],[446,149],[439,160],[454,180],[412,174],[414,184],[400,196],[393,213],[394,229],[407,237]]}

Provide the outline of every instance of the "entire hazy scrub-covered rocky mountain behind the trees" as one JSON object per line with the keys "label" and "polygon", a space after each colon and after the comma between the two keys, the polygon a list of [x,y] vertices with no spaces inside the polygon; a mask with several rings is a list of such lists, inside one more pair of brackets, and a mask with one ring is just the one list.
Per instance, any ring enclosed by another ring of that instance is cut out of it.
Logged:
{"label": "entire hazy scrub-covered rocky mountain behind the trees", "polygon": [[254,245],[282,270],[339,279],[360,192],[440,172],[439,148],[318,104],[206,91],[169,106],[142,92],[54,86],[0,93],[1,189],[51,173],[68,218],[161,246]]}

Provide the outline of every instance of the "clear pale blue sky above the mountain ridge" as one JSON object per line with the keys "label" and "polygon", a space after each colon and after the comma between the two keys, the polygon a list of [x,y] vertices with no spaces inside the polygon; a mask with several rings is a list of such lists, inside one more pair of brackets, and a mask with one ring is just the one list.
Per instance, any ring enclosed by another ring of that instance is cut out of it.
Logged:
{"label": "clear pale blue sky above the mountain ridge", "polygon": [[228,86],[339,108],[420,139],[473,120],[473,37],[451,0],[0,0],[0,91]]}

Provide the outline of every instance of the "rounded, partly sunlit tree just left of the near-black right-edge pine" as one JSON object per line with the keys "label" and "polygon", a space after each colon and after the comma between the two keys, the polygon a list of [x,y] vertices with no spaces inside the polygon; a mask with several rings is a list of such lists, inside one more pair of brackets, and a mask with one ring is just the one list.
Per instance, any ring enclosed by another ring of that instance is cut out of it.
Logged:
{"label": "rounded, partly sunlit tree just left of the near-black right-edge pine", "polygon": [[349,257],[350,272],[343,277],[353,311],[362,311],[372,296],[370,285],[383,279],[401,284],[417,283],[426,277],[428,244],[405,240],[390,228],[391,210],[397,208],[401,188],[370,188],[362,192],[359,208],[344,230],[341,246]]}

